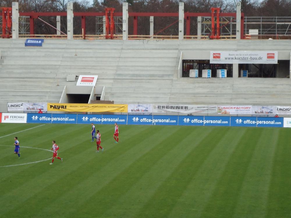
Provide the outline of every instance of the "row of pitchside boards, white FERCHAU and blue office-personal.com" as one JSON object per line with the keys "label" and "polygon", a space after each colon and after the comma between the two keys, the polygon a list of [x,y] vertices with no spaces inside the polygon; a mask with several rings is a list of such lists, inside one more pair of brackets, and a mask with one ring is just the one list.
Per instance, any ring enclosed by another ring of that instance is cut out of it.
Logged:
{"label": "row of pitchside boards, white FERCHAU and blue office-personal.com", "polygon": [[2,123],[123,124],[166,126],[291,127],[290,117],[224,117],[167,115],[84,115],[2,113]]}

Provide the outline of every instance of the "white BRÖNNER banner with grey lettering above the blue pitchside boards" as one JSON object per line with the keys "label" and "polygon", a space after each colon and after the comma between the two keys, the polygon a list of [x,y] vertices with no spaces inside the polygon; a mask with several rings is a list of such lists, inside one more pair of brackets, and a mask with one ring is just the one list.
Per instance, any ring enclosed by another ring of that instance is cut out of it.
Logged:
{"label": "white BR\u00d6NNER banner with grey lettering above the blue pitchside boards", "polygon": [[217,105],[152,105],[153,113],[161,112],[178,112],[178,113],[203,113],[212,114],[217,113]]}

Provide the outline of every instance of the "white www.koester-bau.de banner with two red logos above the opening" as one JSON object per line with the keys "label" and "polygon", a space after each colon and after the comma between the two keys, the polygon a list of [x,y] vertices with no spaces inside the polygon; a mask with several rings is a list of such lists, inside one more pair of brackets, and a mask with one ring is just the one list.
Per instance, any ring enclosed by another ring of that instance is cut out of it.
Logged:
{"label": "white www.koester-bau.de banner with two red logos above the opening", "polygon": [[211,64],[277,64],[278,51],[210,51]]}

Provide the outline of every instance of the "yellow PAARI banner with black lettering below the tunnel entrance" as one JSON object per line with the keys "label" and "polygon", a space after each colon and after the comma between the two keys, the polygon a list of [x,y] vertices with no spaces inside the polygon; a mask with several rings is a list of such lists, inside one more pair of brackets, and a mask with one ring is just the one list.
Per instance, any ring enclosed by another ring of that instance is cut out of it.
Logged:
{"label": "yellow PAARI banner with black lettering below the tunnel entrance", "polygon": [[47,103],[47,111],[65,112],[125,112],[127,104],[73,104],[73,103]]}

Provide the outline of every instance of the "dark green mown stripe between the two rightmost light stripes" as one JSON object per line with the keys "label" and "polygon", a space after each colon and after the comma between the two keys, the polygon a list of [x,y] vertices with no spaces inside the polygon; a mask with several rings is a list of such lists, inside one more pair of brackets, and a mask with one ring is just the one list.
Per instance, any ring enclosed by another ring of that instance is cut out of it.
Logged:
{"label": "dark green mown stripe between the two rightmost light stripes", "polygon": [[[248,128],[246,138],[239,142],[218,179],[201,217],[232,217],[242,182],[260,137],[260,130]],[[247,142],[247,143],[246,143]],[[218,163],[219,164],[219,163]]]}

